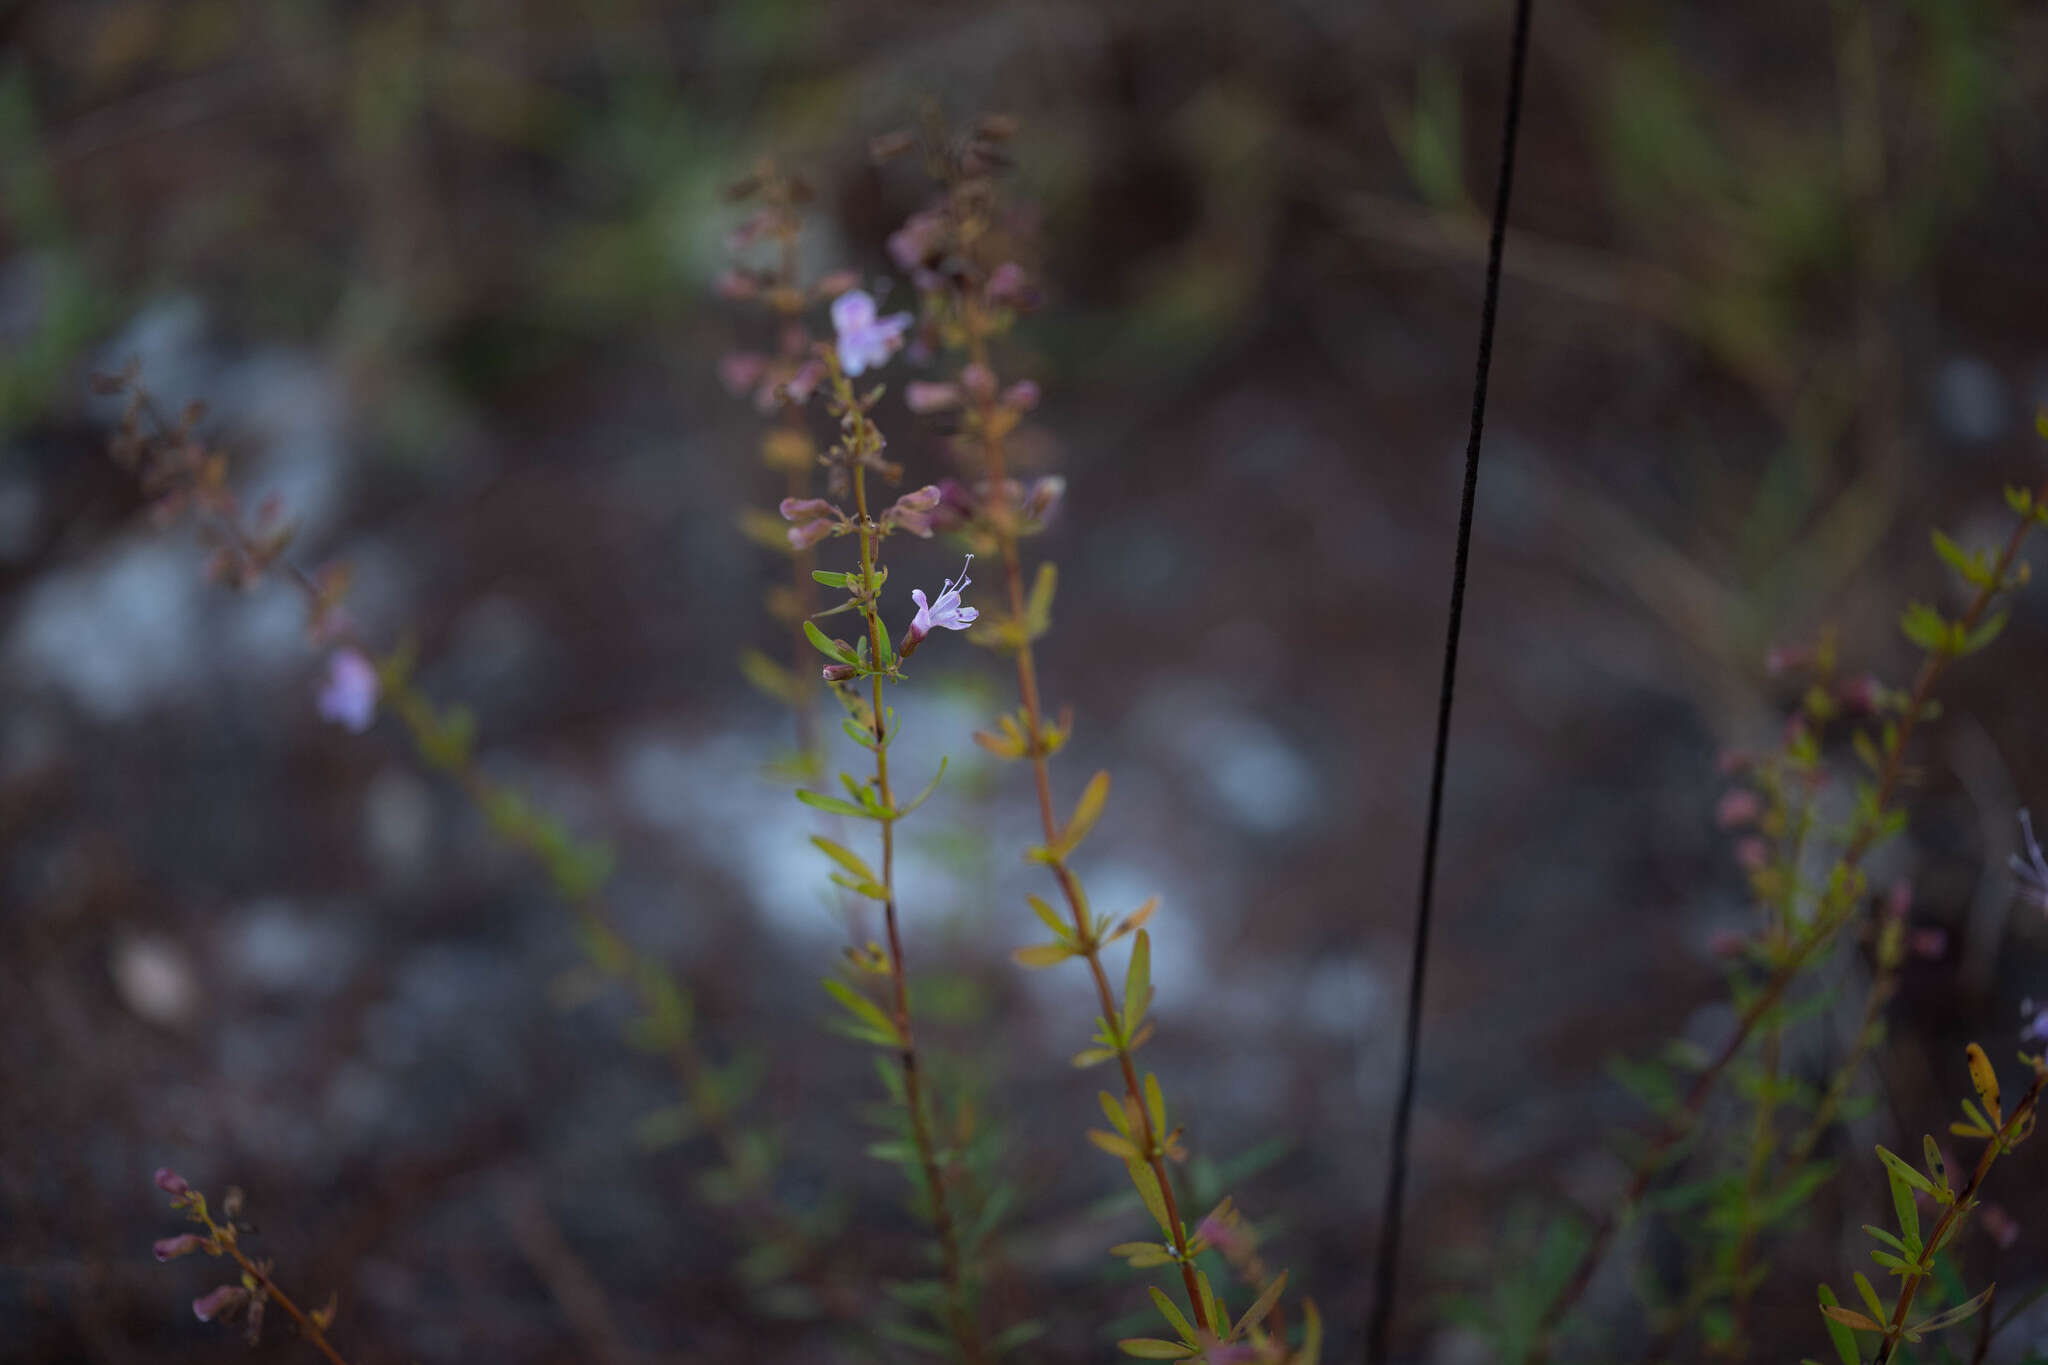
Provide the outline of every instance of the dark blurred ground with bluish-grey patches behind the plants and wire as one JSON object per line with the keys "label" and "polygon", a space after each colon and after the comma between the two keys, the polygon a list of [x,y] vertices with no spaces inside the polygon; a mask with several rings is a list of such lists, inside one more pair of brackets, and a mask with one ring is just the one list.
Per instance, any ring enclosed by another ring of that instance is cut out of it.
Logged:
{"label": "dark blurred ground with bluish-grey patches behind the plants and wire", "polygon": [[[928,100],[1018,115],[1042,207],[1047,309],[1010,368],[1044,385],[1034,452],[1069,475],[1036,546],[1063,565],[1049,690],[1079,714],[1057,772],[1067,800],[1116,772],[1083,872],[1104,909],[1165,896],[1153,1062],[1352,1355],[1507,10],[0,6],[0,1357],[244,1351],[186,1310],[209,1267],[150,1259],[178,1230],[168,1162],[248,1189],[287,1285],[340,1291],[358,1365],[866,1359],[748,1310],[690,1193],[702,1150],[635,1140],[659,1064],[616,1001],[559,988],[557,902],[393,726],[319,722],[301,604],[203,581],[104,458],[117,405],[84,379],[139,358],[172,403],[205,397],[240,487],[283,495],[301,559],[354,567],[375,639],[418,639],[489,769],[616,845],[612,902],[698,990],[707,1046],[766,1050],[793,1179],[856,1199],[858,1254],[903,1273],[897,1175],[860,1154],[870,1064],[817,1027],[844,935],[762,774],[788,718],[735,667],[778,641],[778,565],[737,530],[778,489],[715,379],[760,325],[709,280],[719,190],[762,156],[819,188],[813,268],[887,278],[924,186],[866,143]],[[1409,1359],[1485,1359],[1438,1295],[1618,1187],[1602,1134],[1640,1111],[1604,1060],[1724,1023],[1708,941],[1745,890],[1716,755],[1776,735],[1765,649],[1833,622],[1851,667],[1901,677],[1896,610],[1946,591],[1929,522],[1987,538],[1999,487],[2040,479],[2044,92],[2040,6],[1540,0]],[[911,477],[944,473],[928,424],[891,436]],[[901,573],[936,585],[950,555]],[[1034,1359],[1106,1359],[1135,1287],[1102,1252],[1135,1216],[1092,1209],[1120,1177],[1079,1142],[1087,1007],[1008,964],[1032,806],[967,741],[997,661],[944,645],[905,702],[911,767],[954,759],[913,831],[911,954],[1024,1191],[997,1300],[1047,1320]],[[2048,802],[2044,661],[2032,591],[1958,669],[1876,868],[1946,941],[1907,970],[1849,1177],[1761,1300],[1776,1357],[1825,1351],[1810,1285],[1860,1261],[1868,1144],[1937,1128],[1960,1044],[2009,1056],[2048,993],[2048,927],[2001,870],[2013,810]],[[2038,1279],[2038,1162],[1999,1197],[2028,1236],[1997,1273]],[[1591,1304],[1632,1355],[1624,1277]]]}

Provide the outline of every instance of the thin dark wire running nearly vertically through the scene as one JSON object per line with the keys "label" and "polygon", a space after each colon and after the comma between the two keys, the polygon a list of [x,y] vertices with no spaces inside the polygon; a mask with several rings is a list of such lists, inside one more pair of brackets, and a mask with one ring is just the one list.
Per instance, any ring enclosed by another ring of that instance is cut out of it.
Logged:
{"label": "thin dark wire running nearly vertically through the scene", "polygon": [[1436,759],[1430,765],[1430,821],[1421,841],[1421,894],[1415,900],[1415,954],[1409,960],[1409,1007],[1401,1033],[1401,1095],[1386,1160],[1380,1246],[1372,1267],[1372,1316],[1366,1320],[1366,1365],[1386,1361],[1393,1328],[1395,1267],[1401,1259],[1401,1193],[1407,1185],[1409,1126],[1415,1115],[1415,1054],[1421,1050],[1421,990],[1430,964],[1430,911],[1436,902],[1436,845],[1444,827],[1444,763],[1450,755],[1450,702],[1458,688],[1458,630],[1464,626],[1464,573],[1473,557],[1473,501],[1479,495],[1479,436],[1487,424],[1487,372],[1493,368],[1493,317],[1501,303],[1501,248],[1507,239],[1507,194],[1516,184],[1516,133],[1522,129],[1522,72],[1530,49],[1530,0],[1516,0],[1516,35],[1507,57],[1507,117],[1501,125],[1501,182],[1493,196],[1487,239],[1487,301],[1479,313],[1479,366],[1473,377],[1473,434],[1464,444],[1464,497],[1458,503],[1458,553],[1450,569],[1450,626],[1444,636],[1444,684],[1436,700]]}

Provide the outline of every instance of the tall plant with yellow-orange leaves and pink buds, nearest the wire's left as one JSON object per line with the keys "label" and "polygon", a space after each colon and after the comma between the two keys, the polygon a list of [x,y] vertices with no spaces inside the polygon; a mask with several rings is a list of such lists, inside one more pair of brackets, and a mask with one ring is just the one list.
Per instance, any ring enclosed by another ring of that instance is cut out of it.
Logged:
{"label": "tall plant with yellow-orange leaves and pink buds, nearest the wire's left", "polygon": [[[1073,808],[1059,819],[1053,800],[1051,759],[1073,733],[1071,712],[1047,714],[1038,686],[1034,643],[1051,630],[1057,569],[1040,561],[1026,583],[1022,544],[1042,532],[1065,493],[1059,475],[1040,475],[1028,487],[1012,475],[1010,440],[1024,415],[1038,403],[1030,379],[1004,383],[995,370],[993,346],[1012,332],[1016,319],[1036,307],[1038,287],[1020,260],[1028,248],[1028,215],[1001,190],[1010,166],[1008,141],[1014,121],[981,119],[950,133],[928,119],[915,133],[897,133],[877,143],[879,158],[922,151],[924,170],[936,196],[891,235],[895,264],[909,272],[920,299],[920,340],[956,360],[950,381],[911,385],[913,411],[944,415],[954,424],[952,452],[961,477],[940,487],[938,524],[956,532],[973,551],[1001,567],[1004,608],[973,636],[1010,655],[1016,669],[1018,706],[979,731],[975,743],[1008,761],[1024,761],[1038,796],[1042,841],[1026,855],[1047,868],[1061,907],[1032,894],[1028,905],[1049,941],[1016,952],[1026,968],[1053,968],[1069,960],[1087,966],[1100,1013],[1090,1046],[1073,1056],[1079,1068],[1116,1064],[1118,1093],[1098,1095],[1108,1128],[1092,1128],[1087,1140],[1122,1162],[1159,1240],[1122,1242],[1112,1248],[1130,1269],[1174,1267],[1180,1302],[1153,1287],[1151,1300],[1171,1328],[1171,1338],[1137,1336],[1120,1342],[1141,1359],[1200,1361],[1313,1361],[1321,1324],[1315,1306],[1305,1310],[1300,1351],[1288,1342],[1280,1295],[1286,1273],[1268,1275],[1257,1261],[1249,1228],[1229,1197],[1192,1226],[1176,1193],[1174,1164],[1188,1158],[1182,1128],[1171,1121],[1165,1089],[1155,1072],[1139,1066],[1137,1054],[1153,1036],[1151,937],[1147,921],[1159,905],[1153,896],[1126,915],[1102,915],[1090,907],[1073,857],[1096,829],[1110,796],[1110,774],[1098,772],[1081,788]],[[934,614],[944,608],[944,596]],[[926,616],[924,600],[920,620]],[[940,622],[944,624],[944,622]],[[1112,984],[1106,950],[1128,939],[1122,990]],[[1225,1308],[1202,1257],[1217,1250],[1225,1267],[1251,1279],[1253,1300],[1235,1320]]]}

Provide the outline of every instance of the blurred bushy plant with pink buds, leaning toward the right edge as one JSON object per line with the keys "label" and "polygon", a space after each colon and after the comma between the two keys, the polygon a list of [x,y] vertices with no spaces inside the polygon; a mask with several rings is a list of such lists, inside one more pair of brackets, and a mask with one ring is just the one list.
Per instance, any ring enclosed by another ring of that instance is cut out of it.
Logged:
{"label": "blurred bushy plant with pink buds, leaning toward the right edge", "polygon": [[[2044,426],[2048,436],[2048,426]],[[1767,1273],[1765,1238],[1792,1226],[1808,1199],[1833,1177],[1817,1160],[1825,1134],[1853,1103],[1864,1062],[1882,1038],[1884,1005],[1896,990],[1905,958],[1903,892],[1878,896],[1864,872],[1866,857],[1907,825],[1905,796],[1917,774],[1909,747],[1919,729],[1939,716],[1935,690],[1948,669],[1989,647],[2005,624],[2005,598],[2028,581],[2019,551],[2048,522],[2048,489],[2007,491],[2015,522],[1997,548],[1964,548],[1935,532],[1935,555],[1970,589],[1960,616],[1913,604],[1901,616],[1903,634],[1923,651],[1907,688],[1837,675],[1831,641],[1774,657],[1776,669],[1804,681],[1798,710],[1774,753],[1735,757],[1745,786],[1722,800],[1720,819],[1743,837],[1737,862],[1759,911],[1753,931],[1726,943],[1735,1025],[1714,1050],[1673,1046],[1655,1062],[1624,1064],[1622,1078],[1657,1121],[1628,1140],[1630,1179],[1620,1199],[1575,1242],[1577,1254],[1534,1328],[1503,1349],[1530,1361],[1550,1359],[1571,1308],[1585,1293],[1624,1220],[1647,1203],[1688,1214],[1696,1267],[1677,1302],[1653,1304],[1659,1340],[1698,1336],[1731,1359],[1745,1357],[1747,1312]],[[1847,782],[1849,812],[1823,817],[1823,792],[1841,782],[1831,745],[1847,741],[1860,769]],[[1827,1005],[1817,974],[1843,941],[1866,927],[1870,972],[1862,1021],[1843,1060],[1819,1083],[1786,1070],[1786,1036]],[[1735,1093],[1747,1124],[1726,1148],[1739,1156],[1714,1164],[1716,1146],[1702,1138],[1712,1099]],[[1706,1164],[1694,1179],[1667,1183],[1681,1162]],[[1530,1267],[1552,1275],[1556,1267]]]}

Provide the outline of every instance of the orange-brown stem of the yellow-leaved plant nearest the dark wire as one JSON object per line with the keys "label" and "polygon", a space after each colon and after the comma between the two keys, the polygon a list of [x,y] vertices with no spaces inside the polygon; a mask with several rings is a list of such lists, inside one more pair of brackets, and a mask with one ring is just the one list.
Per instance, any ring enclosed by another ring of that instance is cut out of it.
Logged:
{"label": "orange-brown stem of the yellow-leaved plant nearest the dark wire", "polygon": [[[967,307],[967,334],[969,334],[969,356],[975,364],[987,366],[987,327],[981,319],[979,305],[969,301]],[[993,434],[995,420],[995,399],[989,397],[981,403],[981,430],[983,430],[983,473],[989,483],[989,497],[993,508],[989,512],[989,526],[995,534],[995,544],[999,559],[1004,561],[1004,585],[1010,596],[1010,620],[1024,622],[1024,567],[1018,555],[1018,534],[1016,534],[1016,510],[1010,505],[1008,481],[1006,481],[1006,454],[1001,436]],[[1067,864],[1067,855],[1061,845],[1059,817],[1053,812],[1053,774],[1047,759],[1044,741],[1044,702],[1038,696],[1038,663],[1032,655],[1030,639],[1020,630],[1014,645],[1016,669],[1018,669],[1018,700],[1024,708],[1024,745],[1030,757],[1032,786],[1038,792],[1038,825],[1044,831],[1044,847],[1053,853],[1049,866],[1053,868],[1053,878],[1059,882],[1061,898],[1067,902],[1067,915],[1073,921],[1075,943],[1081,948],[1081,958],[1087,962],[1087,974],[1096,982],[1096,1003],[1102,1007],[1104,1021],[1114,1023],[1122,1017],[1122,1005],[1116,999],[1116,988],[1110,986],[1110,974],[1102,966],[1102,943],[1096,941],[1094,925],[1087,923],[1087,900],[1081,894],[1081,884],[1073,876],[1073,868]],[[1151,1107],[1145,1103],[1145,1087],[1139,1083],[1137,1060],[1130,1046],[1122,1038],[1122,1029],[1110,1027],[1108,1038],[1114,1040],[1116,1048],[1116,1068],[1124,1078],[1124,1097],[1128,1103],[1126,1111],[1137,1124],[1141,1148],[1145,1152],[1145,1164],[1151,1166],[1153,1179],[1159,1183],[1159,1195],[1165,1201],[1167,1236],[1174,1242],[1174,1257],[1180,1265],[1182,1287],[1188,1291],[1188,1310],[1194,1316],[1194,1324],[1204,1332],[1221,1334],[1227,1324],[1210,1322],[1208,1308],[1202,1302],[1202,1291],[1194,1279],[1194,1254],[1188,1250],[1188,1230],[1180,1218],[1180,1201],[1174,1195],[1174,1181],[1165,1164],[1165,1134],[1153,1132]]]}

